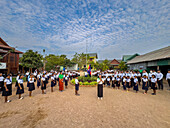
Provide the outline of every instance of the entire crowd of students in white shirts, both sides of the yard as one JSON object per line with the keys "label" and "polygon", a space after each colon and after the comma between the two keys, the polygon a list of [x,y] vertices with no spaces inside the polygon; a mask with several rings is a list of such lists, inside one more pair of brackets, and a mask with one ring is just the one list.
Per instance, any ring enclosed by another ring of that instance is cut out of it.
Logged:
{"label": "entire crowd of students in white shirts, both sides of the yard", "polygon": [[[162,89],[163,90],[163,74],[158,70],[150,71],[147,73],[145,70],[140,73],[139,71],[113,71],[107,70],[104,72],[96,71],[92,73],[93,76],[98,76],[98,98],[102,99],[103,97],[103,86],[105,87],[112,87],[120,89],[123,87],[123,90],[130,91],[131,88],[136,91],[139,91],[139,87],[144,90],[144,94],[147,94],[149,89],[153,89],[152,95],[156,95],[156,90]],[[49,79],[51,79],[51,92],[54,91],[54,87],[56,85],[59,86],[59,91],[62,92],[68,88],[68,81],[75,79],[75,95],[79,96],[79,81],[78,76],[80,76],[80,72],[78,71],[53,71],[50,72],[42,71],[38,72],[37,70],[34,73],[26,72],[25,75],[18,74],[16,77],[16,84],[15,87],[16,95],[19,96],[19,99],[22,100],[22,94],[24,93],[24,86],[23,86],[23,78],[26,76],[27,81],[27,88],[29,91],[29,96],[32,96],[32,92],[36,89],[35,82],[37,81],[37,88],[42,90],[42,94],[46,94],[46,88],[49,85]],[[85,74],[87,76],[87,73]],[[170,70],[166,75],[166,80],[170,86]],[[142,82],[142,84],[141,84]],[[65,86],[64,86],[65,85]],[[2,92],[2,96],[5,97],[5,102],[11,102],[8,100],[8,96],[12,95],[12,76],[8,75],[6,78],[2,76],[0,73],[0,92]]]}

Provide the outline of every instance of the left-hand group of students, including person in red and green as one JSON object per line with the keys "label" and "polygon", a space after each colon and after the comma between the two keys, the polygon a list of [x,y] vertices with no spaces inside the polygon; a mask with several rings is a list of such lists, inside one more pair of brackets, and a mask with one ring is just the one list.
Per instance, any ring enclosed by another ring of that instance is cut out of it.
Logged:
{"label": "left-hand group of students, including person in red and green", "polygon": [[[49,79],[51,79],[51,92],[54,91],[54,87],[56,85],[59,86],[59,91],[63,92],[64,85],[67,89],[68,81],[72,80],[73,78],[77,78],[80,76],[79,72],[72,71],[72,72],[56,72],[51,70],[50,72],[43,71],[38,72],[37,70],[34,73],[30,73],[29,71],[26,72],[25,75],[18,74],[16,77],[16,95],[19,96],[19,99],[22,100],[22,94],[24,93],[24,80],[23,78],[26,76],[27,81],[27,88],[29,91],[29,97],[32,97],[32,92],[35,90],[35,82],[37,81],[37,88],[42,90],[42,94],[46,94],[46,88],[49,83]],[[11,102],[8,100],[8,97],[12,95],[12,75],[7,75],[6,78],[3,77],[2,73],[0,73],[0,93],[2,92],[2,96],[5,97],[5,103]],[[76,95],[78,93],[76,92]]]}

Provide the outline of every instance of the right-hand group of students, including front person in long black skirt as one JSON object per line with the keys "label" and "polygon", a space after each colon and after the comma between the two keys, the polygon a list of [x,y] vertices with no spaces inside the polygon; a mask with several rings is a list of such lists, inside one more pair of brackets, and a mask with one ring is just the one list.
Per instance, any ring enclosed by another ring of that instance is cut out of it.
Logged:
{"label": "right-hand group of students, including front person in long black skirt", "polygon": [[[149,88],[153,89],[152,95],[156,95],[157,85],[158,89],[163,90],[163,74],[160,70],[157,72],[155,70],[150,70],[149,73],[146,70],[143,70],[142,73],[139,71],[105,71],[100,72],[96,71],[93,73],[94,76],[98,76],[98,98],[102,99],[103,97],[103,86],[120,88],[122,84],[125,91],[130,91],[131,88],[136,91],[139,91],[139,86],[142,83],[142,89],[144,94],[147,94]],[[170,87],[170,70],[166,75],[166,80],[168,81]]]}

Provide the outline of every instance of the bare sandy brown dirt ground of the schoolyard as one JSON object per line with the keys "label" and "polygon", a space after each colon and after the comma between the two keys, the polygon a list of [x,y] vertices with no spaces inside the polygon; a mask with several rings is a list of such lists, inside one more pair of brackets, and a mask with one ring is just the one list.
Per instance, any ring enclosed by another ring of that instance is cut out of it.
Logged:
{"label": "bare sandy brown dirt ground of the schoolyard", "polygon": [[36,89],[30,98],[25,83],[23,100],[17,99],[15,88],[11,103],[0,97],[0,128],[170,128],[167,87],[156,96],[151,90],[142,94],[141,87],[138,94],[105,87],[103,100],[98,100],[97,87],[80,87],[75,96],[70,84],[64,92],[57,86],[51,93],[48,86],[44,95]]}

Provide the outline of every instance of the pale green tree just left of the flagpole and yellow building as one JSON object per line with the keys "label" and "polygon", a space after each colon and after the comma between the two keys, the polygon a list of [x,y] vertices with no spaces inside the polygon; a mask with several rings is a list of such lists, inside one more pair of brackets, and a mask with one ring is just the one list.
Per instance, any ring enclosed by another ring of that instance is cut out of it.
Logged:
{"label": "pale green tree just left of the flagpole and yellow building", "polygon": [[[89,54],[87,54],[87,60],[89,60]],[[74,63],[77,63],[78,66],[80,67],[80,69],[82,69],[82,67],[84,65],[86,65],[86,54],[75,53],[75,55],[73,56],[73,59],[71,61],[74,62]]]}

